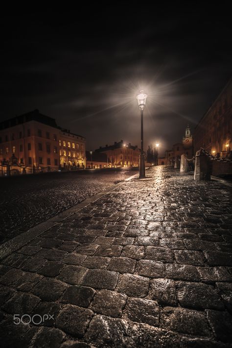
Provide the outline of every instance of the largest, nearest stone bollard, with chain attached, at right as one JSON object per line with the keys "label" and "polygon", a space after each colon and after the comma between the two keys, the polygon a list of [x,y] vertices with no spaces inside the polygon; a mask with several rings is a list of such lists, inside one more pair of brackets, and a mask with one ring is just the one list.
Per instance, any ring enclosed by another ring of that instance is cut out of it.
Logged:
{"label": "largest, nearest stone bollard, with chain attached, at right", "polygon": [[205,155],[202,151],[196,152],[195,159],[195,170],[194,170],[194,180],[210,180],[211,176],[211,162],[207,155]]}

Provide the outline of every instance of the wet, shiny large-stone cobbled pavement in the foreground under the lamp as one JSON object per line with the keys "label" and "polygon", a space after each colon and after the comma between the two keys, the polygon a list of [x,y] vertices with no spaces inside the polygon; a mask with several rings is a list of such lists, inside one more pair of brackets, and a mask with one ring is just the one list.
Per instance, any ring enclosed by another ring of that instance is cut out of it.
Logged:
{"label": "wet, shiny large-stone cobbled pavement in the foreground under the lamp", "polygon": [[232,347],[230,199],[159,166],[51,227],[1,261],[2,347]]}

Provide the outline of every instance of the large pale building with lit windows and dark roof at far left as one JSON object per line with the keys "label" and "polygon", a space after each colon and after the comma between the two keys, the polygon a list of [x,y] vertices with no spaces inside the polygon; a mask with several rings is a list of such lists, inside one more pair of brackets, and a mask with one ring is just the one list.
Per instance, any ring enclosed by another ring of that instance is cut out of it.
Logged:
{"label": "large pale building with lit windows and dark roof at far left", "polygon": [[65,164],[86,165],[85,138],[62,130],[55,119],[36,109],[0,123],[0,162],[1,174],[5,166],[10,166],[12,174],[20,174],[57,171]]}

